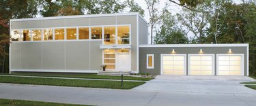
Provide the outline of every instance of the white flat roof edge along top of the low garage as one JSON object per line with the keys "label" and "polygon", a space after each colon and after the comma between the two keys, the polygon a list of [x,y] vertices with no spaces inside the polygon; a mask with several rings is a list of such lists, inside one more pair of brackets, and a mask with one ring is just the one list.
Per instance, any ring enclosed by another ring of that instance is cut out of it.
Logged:
{"label": "white flat roof edge along top of the low garage", "polygon": [[153,44],[139,45],[139,48],[156,47],[248,47],[248,43],[208,43],[208,44]]}

